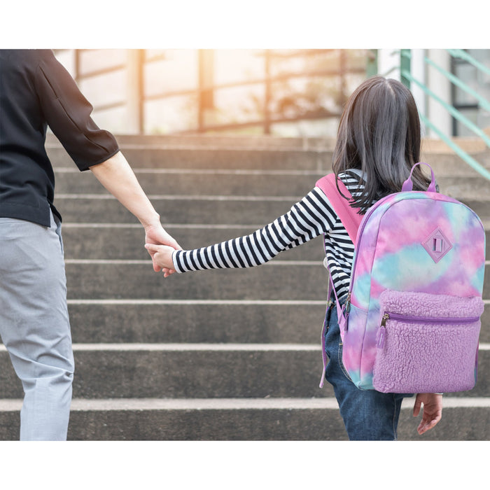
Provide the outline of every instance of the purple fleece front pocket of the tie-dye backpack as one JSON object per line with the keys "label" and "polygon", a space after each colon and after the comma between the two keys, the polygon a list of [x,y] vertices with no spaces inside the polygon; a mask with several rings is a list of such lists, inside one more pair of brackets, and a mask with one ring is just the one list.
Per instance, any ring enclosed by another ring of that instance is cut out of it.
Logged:
{"label": "purple fleece front pocket of the tie-dye backpack", "polygon": [[449,393],[475,386],[481,297],[385,290],[373,386],[383,393]]}

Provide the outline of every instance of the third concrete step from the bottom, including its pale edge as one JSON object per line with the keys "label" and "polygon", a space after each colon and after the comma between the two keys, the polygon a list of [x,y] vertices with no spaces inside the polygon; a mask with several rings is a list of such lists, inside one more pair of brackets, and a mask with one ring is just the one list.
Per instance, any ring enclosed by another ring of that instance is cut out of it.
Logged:
{"label": "third concrete step from the bottom, including its pale edge", "polygon": [[[73,342],[319,344],[325,301],[69,300]],[[490,343],[490,302],[480,342]]]}

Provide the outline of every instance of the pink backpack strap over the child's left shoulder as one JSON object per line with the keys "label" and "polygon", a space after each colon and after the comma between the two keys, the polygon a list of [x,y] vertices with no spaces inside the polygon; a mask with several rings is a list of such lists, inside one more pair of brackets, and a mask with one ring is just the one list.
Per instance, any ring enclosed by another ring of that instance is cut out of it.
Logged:
{"label": "pink backpack strap over the child's left shoulder", "polygon": [[345,184],[337,179],[339,183],[339,189],[343,195],[349,197],[349,200],[344,199],[342,195],[339,194],[339,190],[337,190],[337,186],[335,184],[335,174],[328,174],[319,179],[316,182],[316,187],[321,188],[323,193],[328,197],[330,204],[339,216],[340,221],[342,221],[342,225],[344,225],[349,237],[351,238],[353,244],[356,244],[357,231],[360,225],[360,222],[363,219],[363,216],[357,213],[356,209],[353,209],[349,206],[349,202],[352,199],[351,193],[347,190]]}

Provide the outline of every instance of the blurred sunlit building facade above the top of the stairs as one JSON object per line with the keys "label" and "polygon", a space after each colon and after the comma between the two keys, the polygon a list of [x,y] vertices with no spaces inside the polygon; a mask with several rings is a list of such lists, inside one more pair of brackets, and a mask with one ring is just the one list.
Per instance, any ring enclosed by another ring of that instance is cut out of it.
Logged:
{"label": "blurred sunlit building facade above the top of the stairs", "polygon": [[[490,100],[490,75],[451,50],[55,50],[118,134],[233,133],[333,137],[346,98],[367,76],[402,80],[403,58],[426,89],[407,82],[421,115],[448,137],[471,134],[440,101],[479,128],[490,113],[440,69]],[[490,70],[490,49],[466,50]],[[438,66],[436,69],[433,64]],[[429,128],[427,136],[434,136]]]}

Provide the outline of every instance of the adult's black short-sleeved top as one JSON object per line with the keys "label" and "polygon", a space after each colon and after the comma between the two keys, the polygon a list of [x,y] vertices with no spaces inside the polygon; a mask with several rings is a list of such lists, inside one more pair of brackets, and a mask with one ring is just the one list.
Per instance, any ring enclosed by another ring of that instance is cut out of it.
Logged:
{"label": "adult's black short-sleeved top", "polygon": [[51,50],[0,50],[0,216],[50,225],[55,175],[49,125],[80,171],[118,153],[110,132]]}

